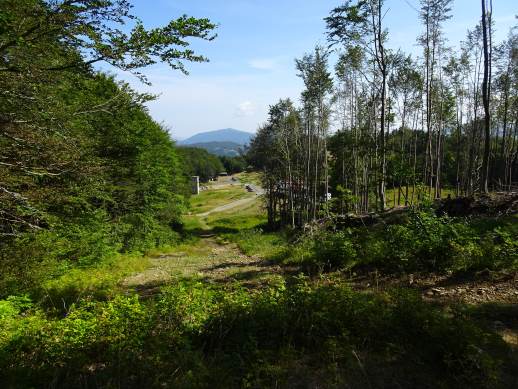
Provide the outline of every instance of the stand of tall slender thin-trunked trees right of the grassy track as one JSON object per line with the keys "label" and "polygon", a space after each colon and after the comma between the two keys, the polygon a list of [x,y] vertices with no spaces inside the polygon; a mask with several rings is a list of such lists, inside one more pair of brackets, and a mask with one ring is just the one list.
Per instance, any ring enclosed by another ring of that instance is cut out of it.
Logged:
{"label": "stand of tall slender thin-trunked trees right of the grassy track", "polygon": [[[495,159],[489,166],[491,187],[500,183],[498,187],[512,189],[518,164],[516,35],[511,32],[493,57],[488,33],[491,99],[485,105],[493,124],[484,127],[482,23],[468,31],[458,52],[446,47],[442,25],[451,17],[451,4],[421,1],[422,63],[386,48],[382,1],[350,0],[331,11],[326,23],[330,45],[338,48],[334,79],[326,70],[325,50],[317,48],[297,60],[305,86],[299,129],[296,120],[288,121],[296,117],[291,102],[281,100],[271,107],[251,150],[252,159],[264,162],[265,187],[271,185],[272,220],[280,215],[281,224],[300,226],[299,214],[304,221],[329,216],[322,199],[328,187],[338,198],[333,210],[342,213],[382,210],[390,201],[401,205],[402,199],[412,205],[441,198],[443,188],[471,195],[483,188],[487,144]],[[492,67],[498,80],[494,90]],[[331,135],[329,123],[337,127]],[[295,223],[285,220],[290,205]]]}

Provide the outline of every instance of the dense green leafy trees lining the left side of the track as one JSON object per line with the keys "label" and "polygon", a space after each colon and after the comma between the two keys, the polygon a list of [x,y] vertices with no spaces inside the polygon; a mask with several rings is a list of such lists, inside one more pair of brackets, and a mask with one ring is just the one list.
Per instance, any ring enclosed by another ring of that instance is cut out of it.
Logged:
{"label": "dense green leafy trees lining the left side of the track", "polygon": [[124,0],[2,2],[0,295],[177,237],[185,180],[151,96],[91,64],[183,69],[204,60],[187,38],[214,26],[182,17],[147,31],[129,12]]}

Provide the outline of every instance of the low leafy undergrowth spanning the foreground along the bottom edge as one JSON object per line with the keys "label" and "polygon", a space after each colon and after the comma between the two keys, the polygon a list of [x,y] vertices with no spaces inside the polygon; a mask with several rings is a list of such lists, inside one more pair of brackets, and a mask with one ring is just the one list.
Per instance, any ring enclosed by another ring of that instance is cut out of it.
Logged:
{"label": "low leafy undergrowth spanning the foreground along the bottom edge", "polygon": [[[0,302],[0,382],[18,387],[505,387],[507,347],[458,310],[304,278],[257,293],[184,282],[153,304],[46,317]],[[315,381],[317,380],[317,381]]]}

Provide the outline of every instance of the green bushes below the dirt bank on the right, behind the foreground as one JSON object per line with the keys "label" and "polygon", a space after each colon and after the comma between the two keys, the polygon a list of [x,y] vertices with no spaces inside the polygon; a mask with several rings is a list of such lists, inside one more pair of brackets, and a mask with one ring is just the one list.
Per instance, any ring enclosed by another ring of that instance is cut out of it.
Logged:
{"label": "green bushes below the dirt bank on the right, behind the foreground", "polygon": [[385,273],[459,273],[518,269],[515,218],[436,216],[415,209],[393,223],[303,235],[285,259],[310,272],[378,269]]}

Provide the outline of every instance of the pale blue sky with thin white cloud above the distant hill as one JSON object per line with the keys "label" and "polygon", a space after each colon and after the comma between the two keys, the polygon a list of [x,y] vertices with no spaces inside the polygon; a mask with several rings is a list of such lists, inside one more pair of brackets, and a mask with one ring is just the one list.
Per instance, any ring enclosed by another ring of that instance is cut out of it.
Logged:
{"label": "pale blue sky with thin white cloud above the distant hill", "polygon": [[[158,99],[148,103],[151,116],[174,139],[220,128],[255,132],[267,119],[268,107],[280,98],[298,102],[303,89],[295,58],[326,45],[324,18],[341,0],[132,0],[132,13],[147,28],[167,24],[183,14],[207,17],[218,25],[212,42],[192,40],[191,48],[208,63],[187,64],[189,75],[157,64],[144,69],[152,86],[134,76],[101,67],[140,92]],[[386,0],[384,22],[389,46],[419,55],[422,32],[419,0]],[[479,0],[455,0],[444,25],[452,46],[480,19]],[[495,42],[517,24],[518,1],[493,0]]]}

